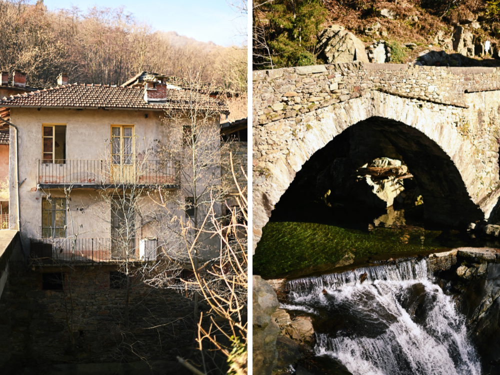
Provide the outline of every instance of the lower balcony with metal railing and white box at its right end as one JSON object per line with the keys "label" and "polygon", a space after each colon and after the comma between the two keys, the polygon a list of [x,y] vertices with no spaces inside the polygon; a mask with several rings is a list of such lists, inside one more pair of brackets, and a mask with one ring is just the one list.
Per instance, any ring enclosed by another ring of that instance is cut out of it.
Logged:
{"label": "lower balcony with metal railing and white box at its right end", "polygon": [[151,262],[162,252],[157,239],[132,238],[127,243],[111,238],[30,239],[32,264],[67,265]]}

